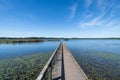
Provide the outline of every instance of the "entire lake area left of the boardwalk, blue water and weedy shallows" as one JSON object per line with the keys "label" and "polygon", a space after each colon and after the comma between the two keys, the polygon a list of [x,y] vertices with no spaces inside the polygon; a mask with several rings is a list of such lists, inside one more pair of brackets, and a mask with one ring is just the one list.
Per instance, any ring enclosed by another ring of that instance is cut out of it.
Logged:
{"label": "entire lake area left of the boardwalk, blue water and weedy shallows", "polygon": [[0,44],[0,80],[35,80],[58,44]]}

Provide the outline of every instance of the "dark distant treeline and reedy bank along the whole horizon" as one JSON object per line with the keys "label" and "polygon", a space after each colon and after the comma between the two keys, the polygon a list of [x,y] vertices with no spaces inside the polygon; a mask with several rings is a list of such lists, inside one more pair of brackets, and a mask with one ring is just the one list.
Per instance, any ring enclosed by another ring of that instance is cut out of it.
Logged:
{"label": "dark distant treeline and reedy bank along the whole horizon", "polygon": [[68,41],[68,40],[120,40],[120,38],[55,38],[55,37],[27,37],[27,38],[8,38],[0,37],[0,43],[24,43],[24,42],[44,42],[44,41]]}

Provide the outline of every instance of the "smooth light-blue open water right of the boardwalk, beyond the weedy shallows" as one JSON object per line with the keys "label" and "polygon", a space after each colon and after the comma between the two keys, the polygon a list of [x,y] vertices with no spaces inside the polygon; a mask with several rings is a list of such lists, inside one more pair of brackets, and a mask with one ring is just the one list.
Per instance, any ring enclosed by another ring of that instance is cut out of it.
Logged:
{"label": "smooth light-blue open water right of the boardwalk, beyond the weedy shallows", "polygon": [[71,50],[120,54],[120,40],[71,40],[65,43]]}

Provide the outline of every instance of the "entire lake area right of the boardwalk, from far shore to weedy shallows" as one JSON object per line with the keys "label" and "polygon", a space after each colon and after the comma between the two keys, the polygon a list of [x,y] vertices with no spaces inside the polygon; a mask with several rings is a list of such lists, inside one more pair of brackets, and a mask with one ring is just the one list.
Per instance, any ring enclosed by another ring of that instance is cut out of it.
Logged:
{"label": "entire lake area right of the boardwalk, from far shore to weedy shallows", "polygon": [[120,40],[65,43],[90,80],[120,80]]}

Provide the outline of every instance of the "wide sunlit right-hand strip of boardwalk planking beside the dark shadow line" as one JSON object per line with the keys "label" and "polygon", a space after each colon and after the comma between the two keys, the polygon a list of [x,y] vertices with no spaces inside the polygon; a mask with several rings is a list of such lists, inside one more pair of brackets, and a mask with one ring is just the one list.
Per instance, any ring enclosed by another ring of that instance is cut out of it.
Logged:
{"label": "wide sunlit right-hand strip of boardwalk planking beside the dark shadow line", "polygon": [[63,44],[65,80],[88,80],[87,76],[76,62],[71,52]]}

